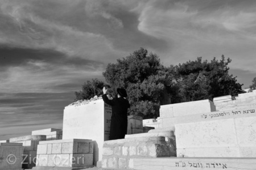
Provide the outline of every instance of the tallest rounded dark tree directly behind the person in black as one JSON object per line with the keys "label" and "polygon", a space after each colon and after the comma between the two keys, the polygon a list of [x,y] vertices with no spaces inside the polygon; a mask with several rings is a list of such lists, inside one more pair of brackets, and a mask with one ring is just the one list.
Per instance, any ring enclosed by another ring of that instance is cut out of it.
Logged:
{"label": "tallest rounded dark tree directly behind the person in black", "polygon": [[160,105],[170,103],[172,74],[160,64],[157,55],[148,54],[146,49],[141,48],[115,64],[108,64],[103,75],[114,92],[117,88],[127,90],[131,115],[158,117]]}

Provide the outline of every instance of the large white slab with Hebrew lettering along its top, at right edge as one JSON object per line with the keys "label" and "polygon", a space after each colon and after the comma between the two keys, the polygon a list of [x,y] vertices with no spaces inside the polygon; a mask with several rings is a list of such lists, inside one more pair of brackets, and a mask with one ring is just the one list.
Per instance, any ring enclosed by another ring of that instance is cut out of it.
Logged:
{"label": "large white slab with Hebrew lettering along its top, at right edge", "polygon": [[178,157],[256,157],[256,107],[179,118]]}

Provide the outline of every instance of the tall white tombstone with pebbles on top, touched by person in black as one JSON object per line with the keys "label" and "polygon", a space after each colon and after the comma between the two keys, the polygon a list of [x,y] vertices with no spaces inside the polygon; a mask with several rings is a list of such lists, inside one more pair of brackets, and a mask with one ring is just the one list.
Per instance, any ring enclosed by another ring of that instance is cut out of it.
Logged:
{"label": "tall white tombstone with pebbles on top, touched by person in black", "polygon": [[92,139],[94,165],[102,159],[102,147],[109,140],[112,107],[103,99],[67,106],[63,117],[63,139]]}

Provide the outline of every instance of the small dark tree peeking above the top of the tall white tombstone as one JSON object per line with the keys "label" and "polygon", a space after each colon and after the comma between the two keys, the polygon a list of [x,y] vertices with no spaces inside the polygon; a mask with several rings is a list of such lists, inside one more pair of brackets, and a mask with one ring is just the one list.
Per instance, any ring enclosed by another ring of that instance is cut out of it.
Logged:
{"label": "small dark tree peeking above the top of the tall white tombstone", "polygon": [[102,94],[102,88],[106,85],[103,81],[98,80],[97,78],[92,79],[92,81],[87,81],[82,85],[82,90],[75,92],[75,101],[81,99],[90,99],[94,96],[100,96]]}

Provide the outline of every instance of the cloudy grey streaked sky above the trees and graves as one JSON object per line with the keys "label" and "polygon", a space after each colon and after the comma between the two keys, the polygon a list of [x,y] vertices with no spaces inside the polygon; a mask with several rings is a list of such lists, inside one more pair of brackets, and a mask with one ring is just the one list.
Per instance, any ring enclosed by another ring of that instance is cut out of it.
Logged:
{"label": "cloudy grey streaked sky above the trees and graves", "polygon": [[230,57],[256,77],[254,0],[0,0],[0,140],[62,128],[64,107],[140,47],[165,66]]}

